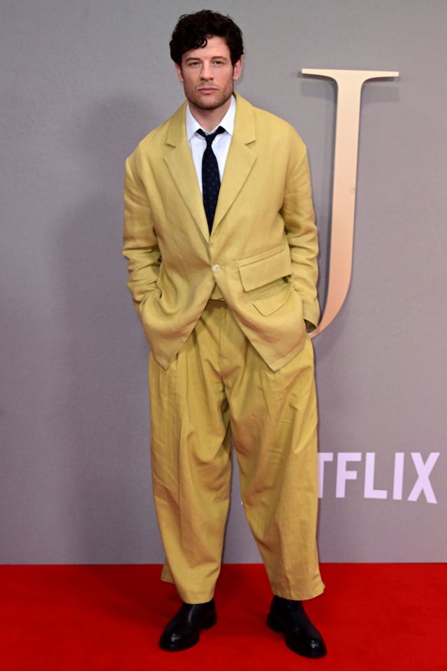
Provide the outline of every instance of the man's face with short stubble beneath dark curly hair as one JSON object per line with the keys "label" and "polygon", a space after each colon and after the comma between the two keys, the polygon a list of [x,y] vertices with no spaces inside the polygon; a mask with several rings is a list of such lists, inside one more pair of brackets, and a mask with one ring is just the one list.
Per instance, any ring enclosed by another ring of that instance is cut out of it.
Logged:
{"label": "man's face with short stubble beneath dark curly hair", "polygon": [[175,64],[183,82],[191,111],[215,110],[230,99],[233,82],[240,76],[242,60],[231,64],[230,50],[221,37],[210,37],[205,47],[192,49],[182,56],[182,67]]}

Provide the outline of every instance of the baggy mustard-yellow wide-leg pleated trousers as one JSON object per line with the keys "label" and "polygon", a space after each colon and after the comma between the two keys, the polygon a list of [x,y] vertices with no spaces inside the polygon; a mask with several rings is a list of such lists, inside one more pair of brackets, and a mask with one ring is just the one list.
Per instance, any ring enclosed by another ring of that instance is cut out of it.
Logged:
{"label": "baggy mustard-yellow wide-leg pleated trousers", "polygon": [[323,589],[316,549],[314,355],[270,370],[223,301],[209,301],[167,370],[149,355],[152,482],[162,579],[186,603],[214,595],[230,497],[230,434],[244,511],[272,592]]}

